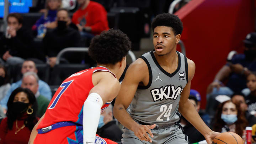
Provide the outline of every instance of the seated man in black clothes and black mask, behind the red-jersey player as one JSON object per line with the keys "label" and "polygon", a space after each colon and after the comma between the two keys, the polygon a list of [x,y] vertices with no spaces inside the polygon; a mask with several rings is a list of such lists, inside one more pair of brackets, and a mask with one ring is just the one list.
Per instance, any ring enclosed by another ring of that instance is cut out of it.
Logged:
{"label": "seated man in black clothes and black mask, behind the red-jersey player", "polygon": [[60,50],[67,47],[80,47],[80,34],[69,26],[71,19],[68,10],[58,10],[57,23],[57,28],[48,31],[43,39],[43,47],[49,57],[51,67],[54,67]]}

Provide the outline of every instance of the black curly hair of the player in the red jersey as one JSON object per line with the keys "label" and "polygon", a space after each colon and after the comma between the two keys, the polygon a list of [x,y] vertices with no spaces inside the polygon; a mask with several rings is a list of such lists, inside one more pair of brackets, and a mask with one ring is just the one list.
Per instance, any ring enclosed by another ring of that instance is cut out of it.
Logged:
{"label": "black curly hair of the player in the red jersey", "polygon": [[131,48],[130,39],[120,30],[110,29],[92,38],[89,55],[98,64],[116,64]]}

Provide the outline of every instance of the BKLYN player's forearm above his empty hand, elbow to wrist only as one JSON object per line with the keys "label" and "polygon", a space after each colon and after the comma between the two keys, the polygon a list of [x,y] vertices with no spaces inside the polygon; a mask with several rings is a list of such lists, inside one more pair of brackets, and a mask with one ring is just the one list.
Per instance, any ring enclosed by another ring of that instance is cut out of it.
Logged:
{"label": "BKLYN player's forearm above his empty hand, elbow to wrist only", "polygon": [[113,108],[114,117],[126,128],[133,130],[134,127],[138,126],[139,124],[135,122],[130,114],[126,111],[124,106],[122,105],[114,105]]}

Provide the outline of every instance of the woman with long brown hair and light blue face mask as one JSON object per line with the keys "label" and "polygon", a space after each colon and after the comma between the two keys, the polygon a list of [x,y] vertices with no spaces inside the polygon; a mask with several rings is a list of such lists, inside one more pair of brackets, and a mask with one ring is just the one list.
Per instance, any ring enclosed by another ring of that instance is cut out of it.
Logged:
{"label": "woman with long brown hair and light blue face mask", "polygon": [[234,132],[244,139],[246,126],[248,126],[248,122],[238,103],[228,100],[219,105],[213,130],[221,133]]}

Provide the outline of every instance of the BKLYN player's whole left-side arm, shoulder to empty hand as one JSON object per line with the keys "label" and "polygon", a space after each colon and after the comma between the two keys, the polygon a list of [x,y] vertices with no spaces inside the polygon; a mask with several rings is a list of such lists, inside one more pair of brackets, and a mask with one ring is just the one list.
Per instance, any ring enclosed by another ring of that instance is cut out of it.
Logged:
{"label": "BKLYN player's whole left-side arm, shoulder to empty hand", "polygon": [[153,137],[153,134],[150,129],[154,128],[155,124],[152,126],[140,125],[135,122],[126,111],[134,97],[139,83],[142,82],[144,85],[148,84],[146,76],[149,77],[149,72],[143,59],[139,58],[129,66],[121,84],[121,90],[116,98],[113,114],[123,126],[132,130],[140,140],[151,142],[149,135]]}

